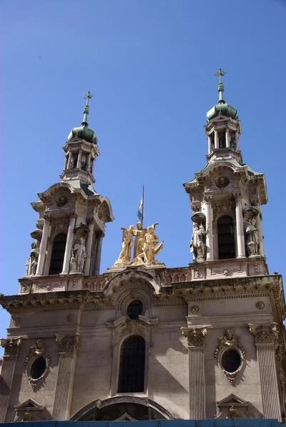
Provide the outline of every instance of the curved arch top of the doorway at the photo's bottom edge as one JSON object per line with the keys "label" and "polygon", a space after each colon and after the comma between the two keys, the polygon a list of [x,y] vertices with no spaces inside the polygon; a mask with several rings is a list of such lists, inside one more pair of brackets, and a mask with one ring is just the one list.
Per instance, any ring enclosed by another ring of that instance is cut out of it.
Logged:
{"label": "curved arch top of the doorway at the photo's bottom edge", "polygon": [[163,406],[135,396],[96,400],[74,414],[71,421],[148,421],[173,420]]}

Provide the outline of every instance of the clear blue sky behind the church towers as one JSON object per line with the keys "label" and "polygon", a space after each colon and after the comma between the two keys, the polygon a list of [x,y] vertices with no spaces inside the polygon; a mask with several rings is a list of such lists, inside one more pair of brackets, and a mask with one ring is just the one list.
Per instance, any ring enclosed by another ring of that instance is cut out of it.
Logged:
{"label": "clear blue sky behind the church towers", "polygon": [[[286,2],[240,0],[50,0],[1,2],[1,287],[16,294],[31,248],[30,202],[55,184],[61,147],[89,124],[101,157],[96,191],[108,196],[101,271],[121,230],[136,222],[145,184],[145,224],[158,221],[160,261],[188,265],[192,233],[183,182],[205,166],[205,114],[218,100],[238,109],[244,162],[267,180],[263,233],[270,273],[285,268]],[[9,315],[0,311],[0,336]]]}

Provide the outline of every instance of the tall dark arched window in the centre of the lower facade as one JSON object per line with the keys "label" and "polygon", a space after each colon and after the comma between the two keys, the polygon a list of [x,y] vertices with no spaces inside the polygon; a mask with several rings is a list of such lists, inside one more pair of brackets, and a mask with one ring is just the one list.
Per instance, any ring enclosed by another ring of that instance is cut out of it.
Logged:
{"label": "tall dark arched window in the centre of the lower facade", "polygon": [[131,335],[121,345],[118,393],[144,391],[145,340]]}

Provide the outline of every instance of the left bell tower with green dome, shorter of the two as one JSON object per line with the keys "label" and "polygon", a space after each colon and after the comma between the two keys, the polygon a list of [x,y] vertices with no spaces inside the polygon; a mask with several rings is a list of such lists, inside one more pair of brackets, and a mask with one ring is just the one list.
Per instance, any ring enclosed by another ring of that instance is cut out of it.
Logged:
{"label": "left bell tower with green dome, shorter of the two", "polygon": [[39,200],[31,204],[39,219],[31,232],[34,242],[26,276],[20,279],[24,289],[31,285],[46,290],[42,279],[48,276],[50,288],[67,290],[71,276],[74,288],[76,276],[79,283],[83,276],[99,274],[106,223],[114,218],[110,201],[93,188],[93,169],[100,153],[96,133],[87,121],[91,97],[90,92],[84,97],[81,127],[73,127],[63,147],[61,182],[39,193]]}

